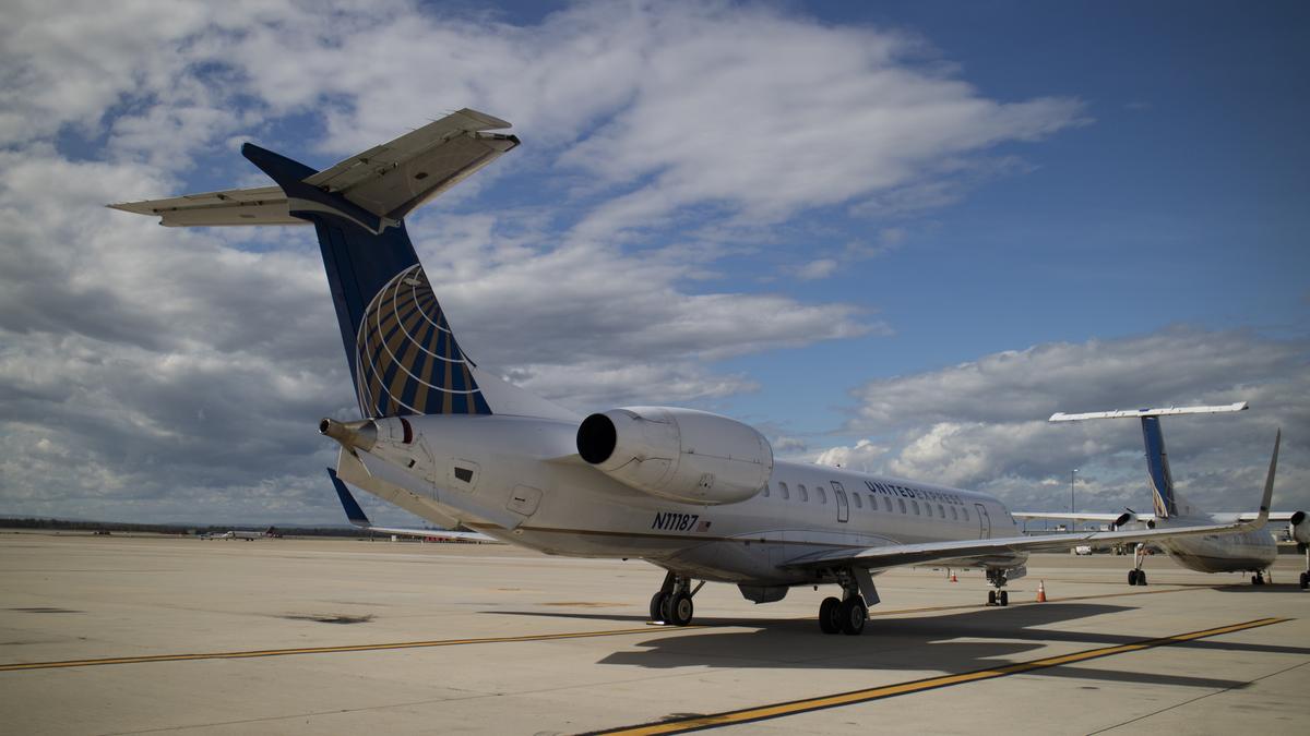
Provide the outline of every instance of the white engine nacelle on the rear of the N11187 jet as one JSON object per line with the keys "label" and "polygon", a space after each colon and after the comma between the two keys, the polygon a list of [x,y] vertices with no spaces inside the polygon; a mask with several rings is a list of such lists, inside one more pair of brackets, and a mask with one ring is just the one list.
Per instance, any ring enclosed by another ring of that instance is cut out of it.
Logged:
{"label": "white engine nacelle on the rear of the N11187 jet", "polygon": [[578,427],[578,453],[621,483],[684,503],[743,502],[773,474],[773,448],[764,435],[692,409],[592,414]]}

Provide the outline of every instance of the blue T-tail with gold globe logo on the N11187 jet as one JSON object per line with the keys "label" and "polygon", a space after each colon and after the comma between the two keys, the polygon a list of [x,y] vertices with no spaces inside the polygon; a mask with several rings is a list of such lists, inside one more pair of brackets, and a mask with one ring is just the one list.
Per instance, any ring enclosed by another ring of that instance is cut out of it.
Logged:
{"label": "blue T-tail with gold globe logo on the N11187 jet", "polygon": [[245,144],[278,186],[111,204],[164,225],[313,224],[363,416],[574,415],[478,371],[460,348],[403,217],[511,151],[510,123],[460,110],[316,172]]}

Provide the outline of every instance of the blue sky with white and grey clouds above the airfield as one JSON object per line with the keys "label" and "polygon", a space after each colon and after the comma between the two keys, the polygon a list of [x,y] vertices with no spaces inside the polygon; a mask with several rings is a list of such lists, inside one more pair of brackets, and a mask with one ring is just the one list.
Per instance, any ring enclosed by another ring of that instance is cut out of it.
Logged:
{"label": "blue sky with white and grey clouds above the airfield", "polygon": [[[79,3],[12,13],[0,515],[337,520],[350,397],[304,229],[101,204],[265,183],[464,106],[524,145],[411,220],[483,365],[578,411],[689,405],[779,457],[1142,504],[1310,507],[1310,9],[1195,3]],[[1243,495],[1244,494],[1244,495]],[[380,519],[403,517],[377,508]]]}

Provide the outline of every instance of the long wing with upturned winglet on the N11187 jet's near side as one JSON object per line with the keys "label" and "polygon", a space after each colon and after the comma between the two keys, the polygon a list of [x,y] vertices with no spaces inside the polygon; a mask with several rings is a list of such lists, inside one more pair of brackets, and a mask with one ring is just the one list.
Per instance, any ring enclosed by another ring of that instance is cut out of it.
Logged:
{"label": "long wing with upturned winglet on the N11187 jet's near side", "polygon": [[994,540],[959,540],[950,542],[924,542],[916,545],[884,545],[855,550],[832,550],[804,554],[790,559],[782,567],[824,568],[861,567],[865,570],[886,570],[904,564],[922,564],[939,561],[972,561],[985,564],[986,558],[1005,558],[1014,553],[1062,551],[1094,542],[1127,543],[1167,540],[1170,537],[1192,537],[1201,534],[1226,534],[1251,532],[1264,526],[1269,520],[1269,502],[1273,498],[1273,474],[1279,465],[1280,430],[1273,440],[1273,457],[1269,458],[1269,473],[1264,479],[1264,495],[1260,511],[1250,521],[1235,520],[1230,524],[1199,524],[1174,526],[1169,529],[1144,529],[1129,532],[1073,532],[1043,537],[1001,537]]}

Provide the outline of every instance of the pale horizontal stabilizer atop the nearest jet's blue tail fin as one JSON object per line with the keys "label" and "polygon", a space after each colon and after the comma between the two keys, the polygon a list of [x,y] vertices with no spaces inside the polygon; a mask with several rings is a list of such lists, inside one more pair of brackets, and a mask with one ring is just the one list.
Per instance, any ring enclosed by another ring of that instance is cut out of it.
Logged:
{"label": "pale horizontal stabilizer atop the nearest jet's blue tail fin", "polygon": [[[508,127],[510,123],[502,119],[464,109],[301,181],[339,194],[384,223],[400,221],[415,207],[519,145],[512,135],[485,132]],[[168,227],[309,224],[291,213],[291,202],[278,186],[123,202],[110,207],[157,216],[160,224]]]}

